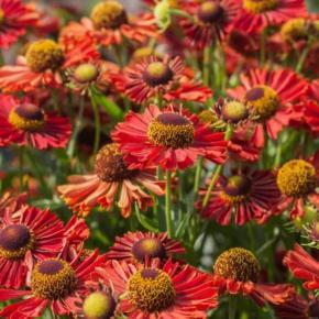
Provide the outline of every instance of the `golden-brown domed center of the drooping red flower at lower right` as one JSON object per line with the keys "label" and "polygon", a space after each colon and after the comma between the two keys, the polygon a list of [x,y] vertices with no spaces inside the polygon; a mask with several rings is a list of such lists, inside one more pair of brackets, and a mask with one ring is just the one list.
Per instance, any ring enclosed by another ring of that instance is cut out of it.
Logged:
{"label": "golden-brown domed center of the drooping red flower at lower right", "polygon": [[260,264],[250,251],[234,248],[223,252],[217,258],[213,271],[216,275],[223,278],[256,283]]}

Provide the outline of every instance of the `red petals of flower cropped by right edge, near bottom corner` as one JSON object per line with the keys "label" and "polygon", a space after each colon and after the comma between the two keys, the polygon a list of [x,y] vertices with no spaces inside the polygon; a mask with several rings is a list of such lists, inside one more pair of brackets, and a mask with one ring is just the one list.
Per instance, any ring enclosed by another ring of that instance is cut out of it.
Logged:
{"label": "red petals of flower cropped by right edge, near bottom corner", "polygon": [[295,244],[295,249],[287,253],[284,264],[294,277],[305,280],[305,289],[319,290],[319,262],[311,257],[299,244]]}

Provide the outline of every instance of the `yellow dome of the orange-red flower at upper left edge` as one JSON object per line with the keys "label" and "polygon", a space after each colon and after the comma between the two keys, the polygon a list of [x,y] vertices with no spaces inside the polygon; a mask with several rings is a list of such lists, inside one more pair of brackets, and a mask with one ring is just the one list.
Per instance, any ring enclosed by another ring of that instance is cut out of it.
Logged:
{"label": "yellow dome of the orange-red flower at upper left edge", "polygon": [[26,63],[35,73],[58,69],[65,59],[62,47],[52,40],[38,40],[32,43],[25,54]]}

